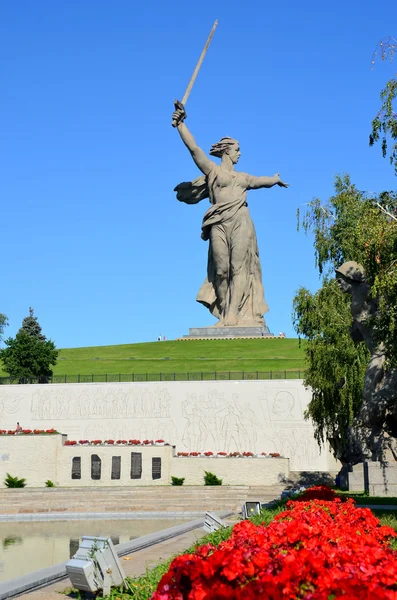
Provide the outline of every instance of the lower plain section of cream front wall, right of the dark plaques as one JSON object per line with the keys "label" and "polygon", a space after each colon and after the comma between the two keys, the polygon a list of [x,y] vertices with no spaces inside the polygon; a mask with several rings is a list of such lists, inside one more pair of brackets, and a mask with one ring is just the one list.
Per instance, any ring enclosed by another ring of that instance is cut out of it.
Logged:
{"label": "lower plain section of cream front wall, right of the dark plaques", "polygon": [[275,485],[288,477],[287,458],[184,458],[175,457],[171,475],[184,477],[184,485],[203,485],[204,472],[223,485]]}

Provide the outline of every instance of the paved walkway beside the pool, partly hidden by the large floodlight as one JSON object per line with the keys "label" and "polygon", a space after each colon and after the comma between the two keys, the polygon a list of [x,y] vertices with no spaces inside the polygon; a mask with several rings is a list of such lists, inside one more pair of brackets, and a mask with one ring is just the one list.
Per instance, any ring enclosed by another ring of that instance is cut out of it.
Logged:
{"label": "paved walkway beside the pool, partly hidden by the large floodlight", "polygon": [[[204,535],[205,532],[203,529],[189,531],[171,540],[145,548],[145,550],[121,557],[121,565],[125,574],[130,577],[142,575],[145,573],[146,568],[153,568],[162,560],[167,560],[175,554],[180,554]],[[35,592],[18,596],[18,598],[23,598],[24,600],[62,600],[63,597],[60,593],[64,592],[67,588],[70,588],[70,581],[68,578],[65,578]],[[64,596],[65,600],[68,597],[73,596]],[[90,597],[94,598],[94,596],[90,596],[89,594],[86,595],[87,599]]]}

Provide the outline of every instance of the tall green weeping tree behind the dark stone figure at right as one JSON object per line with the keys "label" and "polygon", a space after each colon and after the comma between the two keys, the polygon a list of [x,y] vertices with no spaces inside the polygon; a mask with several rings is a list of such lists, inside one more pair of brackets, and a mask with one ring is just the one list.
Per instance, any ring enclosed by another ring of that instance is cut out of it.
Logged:
{"label": "tall green weeping tree behind the dark stone figure at right", "polygon": [[380,299],[374,326],[397,363],[397,198],[392,192],[369,197],[345,175],[336,177],[335,195],[307,205],[298,223],[314,235],[315,262],[323,277],[316,294],[300,289],[294,298],[294,326],[308,339],[305,383],[313,390],[307,416],[319,441],[329,438],[347,457],[348,426],[361,406],[369,354],[350,337],[350,298],[334,281],[334,269],[348,260],[364,266],[372,293]]}

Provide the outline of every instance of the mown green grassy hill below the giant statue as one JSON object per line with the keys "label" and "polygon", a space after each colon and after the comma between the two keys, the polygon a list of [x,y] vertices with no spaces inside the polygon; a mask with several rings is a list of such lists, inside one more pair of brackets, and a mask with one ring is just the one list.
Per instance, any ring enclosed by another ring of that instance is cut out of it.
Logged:
{"label": "mown green grassy hill below the giant statue", "polygon": [[[297,339],[194,340],[65,348],[54,375],[302,371]],[[6,373],[0,371],[0,375]]]}

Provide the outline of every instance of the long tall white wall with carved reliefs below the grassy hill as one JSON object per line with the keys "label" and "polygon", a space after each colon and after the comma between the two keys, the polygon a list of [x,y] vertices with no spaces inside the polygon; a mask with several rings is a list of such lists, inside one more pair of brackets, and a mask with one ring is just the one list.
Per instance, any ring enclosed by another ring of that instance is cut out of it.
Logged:
{"label": "long tall white wall with carved reliefs below the grassy hill", "polygon": [[75,440],[162,438],[179,451],[279,452],[293,471],[338,470],[303,418],[310,398],[300,380],[2,385],[0,429],[19,421]]}

